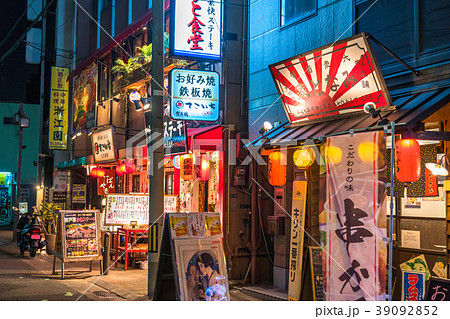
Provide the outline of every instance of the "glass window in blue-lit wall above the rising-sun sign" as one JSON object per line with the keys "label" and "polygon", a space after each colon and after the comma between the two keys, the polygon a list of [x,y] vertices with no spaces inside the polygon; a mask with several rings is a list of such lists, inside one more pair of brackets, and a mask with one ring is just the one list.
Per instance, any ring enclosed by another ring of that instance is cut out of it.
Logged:
{"label": "glass window in blue-lit wall above the rising-sun sign", "polygon": [[316,0],[281,0],[281,26],[308,18],[317,13]]}

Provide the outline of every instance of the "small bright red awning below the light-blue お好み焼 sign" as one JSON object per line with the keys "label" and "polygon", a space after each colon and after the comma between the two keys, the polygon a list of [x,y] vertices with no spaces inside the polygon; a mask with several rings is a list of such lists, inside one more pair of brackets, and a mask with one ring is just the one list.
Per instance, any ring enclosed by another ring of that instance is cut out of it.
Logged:
{"label": "small bright red awning below the light-blue \u304a\u597d\u307f\u713c sign", "polygon": [[223,150],[223,128],[212,125],[199,128],[187,128],[186,137],[189,150],[221,151]]}

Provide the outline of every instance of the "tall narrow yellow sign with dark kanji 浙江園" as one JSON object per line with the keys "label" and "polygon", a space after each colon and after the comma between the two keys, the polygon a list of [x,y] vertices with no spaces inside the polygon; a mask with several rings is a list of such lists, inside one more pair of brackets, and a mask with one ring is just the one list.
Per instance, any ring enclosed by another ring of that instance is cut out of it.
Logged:
{"label": "tall narrow yellow sign with dark kanji \u6d59\u6c5f\u5712", "polygon": [[50,90],[50,119],[48,146],[50,149],[67,149],[67,129],[69,125],[69,68],[52,66],[52,86]]}

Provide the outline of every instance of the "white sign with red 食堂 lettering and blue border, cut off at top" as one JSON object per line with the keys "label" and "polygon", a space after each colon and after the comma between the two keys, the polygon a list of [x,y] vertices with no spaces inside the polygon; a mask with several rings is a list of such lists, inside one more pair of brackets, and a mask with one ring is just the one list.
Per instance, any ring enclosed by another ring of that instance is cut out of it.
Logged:
{"label": "white sign with red \u98df\u5802 lettering and blue border, cut off at top", "polygon": [[171,1],[170,55],[220,60],[222,6],[220,1]]}

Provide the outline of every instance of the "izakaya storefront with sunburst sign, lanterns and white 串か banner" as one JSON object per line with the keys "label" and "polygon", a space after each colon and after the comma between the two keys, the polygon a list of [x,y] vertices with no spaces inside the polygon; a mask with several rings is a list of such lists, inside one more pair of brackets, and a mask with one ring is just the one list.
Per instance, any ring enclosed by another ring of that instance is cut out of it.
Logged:
{"label": "izakaya storefront with sunburst sign, lanterns and white \u4e32\u304b banner", "polygon": [[448,182],[433,166],[448,155],[450,89],[391,102],[364,37],[322,49],[270,66],[289,121],[249,145],[268,164],[257,205],[274,230],[274,286],[290,300],[432,298],[426,283],[449,284]]}

